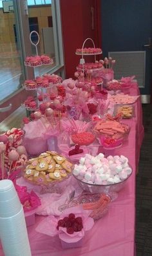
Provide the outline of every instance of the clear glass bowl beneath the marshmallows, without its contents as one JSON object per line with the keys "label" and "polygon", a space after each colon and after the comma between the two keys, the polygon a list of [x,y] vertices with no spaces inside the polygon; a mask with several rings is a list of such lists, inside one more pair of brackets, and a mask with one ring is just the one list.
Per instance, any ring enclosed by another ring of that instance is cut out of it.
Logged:
{"label": "clear glass bowl beneath the marshmallows, without its contents", "polygon": [[[132,168],[131,170],[133,172]],[[82,180],[79,180],[74,174],[73,174],[73,177],[77,180],[79,186],[83,189],[83,191],[91,192],[91,193],[109,194],[109,192],[119,192],[121,189],[123,189],[129,177],[131,176],[131,174],[128,175],[128,178],[126,178],[126,180],[120,181],[119,183],[110,184],[110,185],[89,184]]]}

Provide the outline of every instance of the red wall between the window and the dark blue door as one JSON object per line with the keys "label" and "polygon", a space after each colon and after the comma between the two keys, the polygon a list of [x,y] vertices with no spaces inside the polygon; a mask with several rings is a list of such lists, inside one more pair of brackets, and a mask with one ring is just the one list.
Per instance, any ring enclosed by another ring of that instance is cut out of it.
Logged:
{"label": "red wall between the window and the dark blue door", "polygon": [[[81,56],[75,55],[75,50],[82,47],[86,38],[92,38],[96,47],[100,43],[100,0],[61,0],[62,38],[64,45],[64,64],[66,78],[74,77]],[[87,3],[87,4],[86,4]],[[95,29],[91,29],[91,7],[94,8]],[[91,42],[86,47],[91,47]],[[86,62],[93,57],[86,57]]]}

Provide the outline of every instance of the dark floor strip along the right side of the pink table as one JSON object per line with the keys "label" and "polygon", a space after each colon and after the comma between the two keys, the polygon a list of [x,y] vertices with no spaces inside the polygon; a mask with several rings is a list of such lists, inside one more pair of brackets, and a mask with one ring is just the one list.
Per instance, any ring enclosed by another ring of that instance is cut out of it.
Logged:
{"label": "dark floor strip along the right side of the pink table", "polygon": [[137,175],[136,246],[137,256],[152,256],[152,105],[143,105],[143,116],[145,136]]}

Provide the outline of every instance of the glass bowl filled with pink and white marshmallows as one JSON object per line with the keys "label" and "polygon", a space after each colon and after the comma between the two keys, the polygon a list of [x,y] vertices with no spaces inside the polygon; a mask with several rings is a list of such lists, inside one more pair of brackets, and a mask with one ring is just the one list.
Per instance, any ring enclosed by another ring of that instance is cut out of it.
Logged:
{"label": "glass bowl filled with pink and white marshmallows", "polygon": [[102,153],[95,157],[86,154],[73,169],[73,177],[80,187],[91,193],[119,192],[131,174],[127,157],[104,157]]}

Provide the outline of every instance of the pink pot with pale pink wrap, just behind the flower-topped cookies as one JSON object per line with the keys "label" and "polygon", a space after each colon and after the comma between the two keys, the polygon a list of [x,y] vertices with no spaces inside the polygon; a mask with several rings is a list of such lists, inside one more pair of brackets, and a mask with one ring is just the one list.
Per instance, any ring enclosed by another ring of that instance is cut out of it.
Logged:
{"label": "pink pot with pale pink wrap, just behind the flower-topped cookies", "polygon": [[23,144],[29,155],[34,156],[48,150],[47,139],[44,137],[50,124],[44,124],[44,119],[24,124]]}

